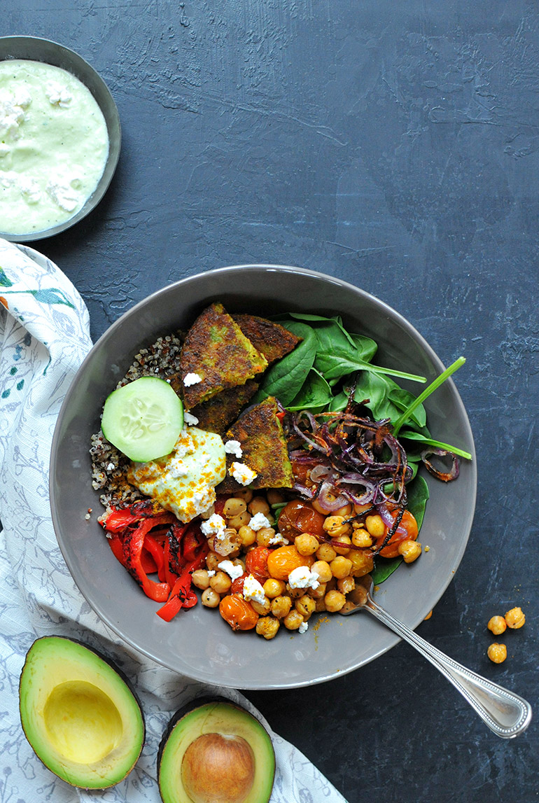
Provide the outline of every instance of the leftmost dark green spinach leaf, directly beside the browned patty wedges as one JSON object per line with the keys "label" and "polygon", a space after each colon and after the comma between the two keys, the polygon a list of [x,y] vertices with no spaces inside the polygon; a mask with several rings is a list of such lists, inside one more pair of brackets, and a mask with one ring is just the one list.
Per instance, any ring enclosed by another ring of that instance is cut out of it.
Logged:
{"label": "leftmost dark green spinach leaf, directly beside the browned patty wedges", "polygon": [[267,370],[252,403],[262,402],[267,396],[275,396],[286,407],[300,392],[312,369],[316,356],[316,336],[312,328],[300,321],[290,321],[286,328],[303,339],[292,352]]}

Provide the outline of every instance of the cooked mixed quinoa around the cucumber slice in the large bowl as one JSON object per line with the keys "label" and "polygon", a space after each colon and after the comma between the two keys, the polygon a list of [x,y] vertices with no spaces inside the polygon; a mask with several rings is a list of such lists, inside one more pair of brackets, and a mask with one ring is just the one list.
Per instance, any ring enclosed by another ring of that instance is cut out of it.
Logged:
{"label": "cooked mixed quinoa around the cucumber slice in the large bowl", "polygon": [[[158,337],[155,343],[141,349],[135,355],[133,364],[129,366],[125,377],[122,377],[116,389],[127,385],[140,377],[160,377],[165,379],[180,369],[180,353],[182,350],[182,332]],[[104,434],[92,435],[90,456],[92,458],[92,487],[101,491],[100,502],[108,510],[113,505],[125,506],[135,499],[144,496],[133,485],[129,485],[126,474],[129,458],[121,454],[108,442]]]}

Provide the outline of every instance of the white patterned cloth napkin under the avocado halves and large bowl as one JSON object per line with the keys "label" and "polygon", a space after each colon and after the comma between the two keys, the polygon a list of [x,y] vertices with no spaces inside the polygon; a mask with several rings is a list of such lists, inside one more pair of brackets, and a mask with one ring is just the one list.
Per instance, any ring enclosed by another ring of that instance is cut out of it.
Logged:
{"label": "white patterned cloth napkin under the avocado halves and large bowl", "polygon": [[[48,465],[56,417],[71,379],[92,347],[88,310],[55,264],[0,239],[0,800],[10,803],[159,803],[156,756],[171,715],[190,699],[216,694],[247,707],[238,691],[207,687],[126,648],[88,606],[64,563],[52,528]],[[43,767],[22,732],[18,678],[35,638],[78,638],[108,654],[132,680],[146,719],[133,772],[100,793],[74,789]],[[310,761],[272,733],[272,803],[345,803]]]}

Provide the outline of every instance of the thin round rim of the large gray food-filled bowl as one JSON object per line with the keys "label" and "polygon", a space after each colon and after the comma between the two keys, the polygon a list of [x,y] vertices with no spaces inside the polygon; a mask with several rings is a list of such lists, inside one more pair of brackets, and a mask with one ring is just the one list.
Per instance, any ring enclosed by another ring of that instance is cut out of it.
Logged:
{"label": "thin round rim of the large gray food-filled bowl", "polygon": [[[56,539],[57,539],[57,541],[59,543],[59,548],[60,548],[60,551],[63,554],[64,560],[66,560],[67,568],[69,569],[70,573],[71,573],[71,567],[70,567],[69,562],[68,562],[66,548],[65,548],[65,546],[64,546],[64,544],[63,544],[63,542],[61,540],[61,537],[59,536],[59,532],[61,532],[61,525],[59,523],[59,518],[58,518],[57,512],[55,510],[55,505],[53,504],[53,501],[55,499],[54,475],[55,475],[55,453],[56,453],[57,447],[59,445],[59,438],[60,438],[59,430],[61,428],[61,422],[63,420],[63,416],[66,414],[66,411],[68,409],[69,402],[70,402],[70,399],[71,399],[71,395],[73,393],[75,393],[75,389],[76,389],[78,378],[80,377],[80,375],[82,373],[84,373],[84,371],[86,370],[86,368],[88,366],[88,363],[90,361],[92,361],[94,353],[96,353],[98,351],[98,349],[100,349],[101,345],[104,343],[105,340],[108,340],[108,339],[112,338],[112,336],[114,335],[116,330],[123,324],[123,321],[125,320],[125,318],[127,318],[128,316],[136,315],[137,312],[141,308],[145,307],[146,304],[149,304],[149,303],[153,302],[153,300],[156,300],[159,296],[165,294],[172,287],[177,287],[177,286],[182,286],[182,285],[189,284],[191,282],[197,281],[202,276],[205,276],[205,275],[208,275],[208,274],[209,275],[226,274],[227,272],[238,271],[238,270],[241,270],[241,271],[260,271],[260,269],[263,269],[264,271],[267,271],[267,272],[286,272],[286,273],[294,273],[296,275],[297,274],[299,274],[299,275],[307,275],[309,277],[313,277],[313,278],[316,278],[316,279],[322,279],[325,283],[328,283],[328,282],[329,283],[334,283],[338,287],[345,288],[345,290],[348,290],[348,291],[352,291],[353,294],[359,294],[365,300],[367,300],[369,303],[374,304],[375,306],[378,306],[378,308],[381,308],[382,310],[386,311],[390,315],[391,318],[396,319],[398,321],[398,323],[403,328],[406,328],[406,331],[413,337],[414,340],[416,340],[420,344],[421,348],[427,353],[427,356],[431,359],[433,365],[435,366],[435,368],[438,370],[439,373],[441,373],[443,371],[443,369],[445,368],[445,366],[443,365],[442,361],[440,360],[438,355],[435,353],[434,349],[432,349],[432,347],[428,344],[427,340],[425,340],[423,335],[421,335],[418,332],[418,330],[416,328],[414,328],[413,324],[410,324],[410,321],[406,320],[406,318],[404,316],[402,316],[402,314],[400,312],[398,312],[394,308],[390,307],[390,305],[386,304],[386,302],[378,299],[377,296],[372,295],[368,291],[362,290],[361,287],[357,287],[356,285],[353,285],[352,283],[349,283],[349,282],[345,281],[344,279],[339,279],[338,277],[322,273],[321,271],[312,271],[312,270],[310,270],[308,268],[292,267],[292,266],[288,266],[288,265],[277,265],[277,264],[272,264],[272,263],[246,263],[246,264],[239,264],[239,265],[229,265],[227,267],[213,268],[213,269],[210,269],[208,271],[199,271],[198,273],[196,273],[194,275],[186,276],[183,279],[178,279],[178,281],[168,283],[164,287],[161,287],[160,289],[158,289],[156,291],[153,291],[148,296],[145,296],[144,299],[138,301],[137,304],[134,304],[133,307],[129,308],[129,310],[126,310],[124,313],[122,313],[122,315],[119,318],[117,318],[115,321],[113,321],[112,324],[110,324],[110,326],[108,326],[108,328],[105,330],[105,332],[103,332],[103,334],[98,338],[98,340],[96,340],[96,343],[92,346],[92,349],[88,352],[88,354],[84,358],[84,361],[81,363],[80,368],[78,369],[78,371],[76,372],[75,376],[71,380],[71,385],[67,389],[66,396],[64,397],[62,406],[61,406],[61,408],[59,410],[59,416],[58,416],[57,421],[56,421],[55,430],[54,430],[54,434],[53,434],[53,438],[52,438],[52,445],[51,445],[51,461],[50,461],[50,472],[49,472],[49,499],[50,499],[50,504],[51,504],[51,516],[52,516],[53,526],[54,526],[54,530],[55,530],[55,536],[56,536]],[[449,385],[451,387],[451,389],[452,389],[455,404],[459,409],[460,418],[461,418],[466,430],[468,430],[468,436],[470,438],[469,446],[470,446],[470,451],[472,453],[472,461],[470,461],[470,469],[471,469],[472,473],[471,473],[470,477],[468,478],[468,483],[472,484],[472,504],[470,505],[469,509],[466,511],[465,522],[463,523],[463,532],[465,532],[465,536],[460,541],[459,548],[458,548],[457,552],[455,552],[455,555],[453,556],[453,560],[452,560],[452,563],[451,563],[451,570],[447,572],[447,577],[444,577],[443,581],[437,587],[436,598],[435,598],[435,601],[432,603],[433,607],[434,607],[434,605],[436,605],[438,603],[439,599],[443,596],[443,593],[446,591],[447,587],[450,585],[450,583],[453,580],[453,578],[455,577],[455,573],[456,573],[457,569],[459,568],[459,565],[460,565],[460,563],[462,561],[463,554],[464,554],[464,552],[465,552],[465,550],[466,550],[466,548],[468,546],[468,540],[469,540],[469,537],[470,537],[470,533],[472,531],[472,524],[473,524],[473,519],[474,519],[474,516],[475,516],[476,497],[477,497],[476,449],[475,449],[475,443],[474,443],[473,434],[472,434],[472,427],[470,426],[468,414],[467,414],[466,409],[465,409],[465,407],[463,405],[463,401],[462,401],[462,399],[460,397],[460,394],[459,394],[458,390],[456,389],[455,382],[453,381],[452,377],[449,377],[447,379],[447,385]],[[382,646],[381,649],[377,650],[369,658],[367,658],[365,660],[361,660],[360,662],[356,662],[355,664],[353,664],[351,666],[346,666],[345,668],[342,668],[342,669],[340,669],[338,671],[333,671],[333,672],[329,672],[329,673],[325,673],[325,674],[322,673],[321,675],[318,675],[318,676],[316,676],[316,677],[314,677],[312,679],[305,679],[305,680],[302,680],[300,682],[292,681],[292,682],[288,682],[287,683],[286,681],[283,681],[283,682],[271,683],[271,684],[270,683],[263,683],[263,685],[260,685],[259,683],[256,683],[256,681],[252,681],[252,682],[248,682],[248,683],[243,683],[243,682],[242,683],[227,683],[227,682],[220,681],[218,679],[216,680],[214,677],[211,677],[210,675],[207,675],[207,676],[190,675],[189,672],[186,671],[185,669],[178,669],[178,666],[174,666],[173,662],[162,660],[161,658],[156,657],[156,655],[153,654],[153,652],[151,650],[145,649],[144,646],[141,646],[141,644],[135,642],[132,638],[127,638],[125,633],[122,631],[121,626],[118,625],[117,622],[113,618],[109,617],[108,614],[103,611],[101,605],[96,604],[95,601],[92,601],[92,599],[89,597],[89,595],[87,593],[85,593],[85,591],[83,589],[80,588],[80,585],[76,581],[75,577],[73,577],[73,579],[76,582],[76,585],[80,590],[80,593],[83,594],[84,598],[86,599],[86,601],[88,602],[90,607],[99,616],[101,621],[104,622],[104,624],[106,626],[108,626],[114,633],[116,633],[116,635],[121,639],[122,642],[124,642],[125,644],[133,647],[134,650],[137,650],[137,652],[145,655],[146,658],[150,658],[154,662],[157,662],[159,665],[165,666],[167,669],[172,670],[174,672],[177,672],[178,674],[182,674],[182,675],[186,675],[187,677],[191,677],[192,679],[197,680],[198,682],[201,682],[201,683],[218,683],[219,685],[221,685],[223,687],[243,689],[243,690],[251,690],[251,691],[276,691],[276,690],[280,690],[280,689],[300,688],[300,687],[306,687],[306,686],[309,686],[309,685],[312,685],[312,684],[326,683],[329,680],[333,680],[333,679],[336,679],[337,677],[340,677],[342,675],[347,675],[352,671],[356,671],[357,669],[361,668],[361,666],[365,666],[365,664],[374,661],[376,658],[379,658],[382,654],[385,654],[388,650],[392,649],[396,644],[398,644],[398,642],[400,642],[402,640],[397,634],[394,634],[390,630],[388,630],[387,631],[387,637],[388,638],[387,638],[386,645]],[[415,630],[415,628],[417,626],[419,626],[419,624],[423,621],[423,619],[424,619],[424,615],[416,617],[411,624],[409,623],[410,628],[412,630]]]}

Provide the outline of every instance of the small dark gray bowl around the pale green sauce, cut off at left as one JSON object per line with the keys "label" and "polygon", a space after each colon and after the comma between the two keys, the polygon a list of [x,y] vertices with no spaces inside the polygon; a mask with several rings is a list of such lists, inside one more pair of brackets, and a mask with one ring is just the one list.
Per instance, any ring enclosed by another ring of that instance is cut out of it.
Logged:
{"label": "small dark gray bowl around the pale green sauce, cut off at left", "polygon": [[6,234],[2,232],[0,223],[0,237],[15,243],[27,243],[51,237],[53,234],[59,234],[61,231],[74,226],[95,209],[108,190],[108,185],[112,181],[112,176],[120,157],[120,117],[114,99],[104,80],[88,62],[84,61],[80,55],[71,51],[68,47],[51,42],[49,39],[39,39],[36,36],[2,36],[0,37],[0,61],[6,59],[42,61],[71,72],[71,75],[75,75],[92,92],[101,112],[103,112],[108,131],[108,157],[103,175],[100,177],[96,190],[87,199],[82,209],[72,218],[59,223],[58,226],[51,226],[51,228],[32,232],[31,234]]}

